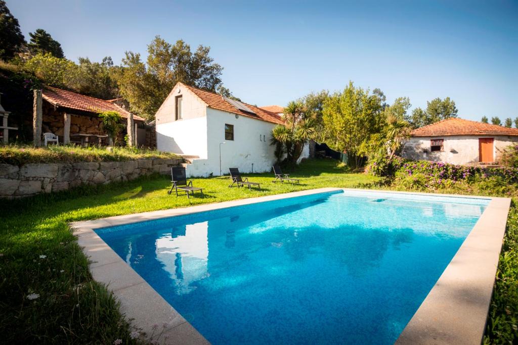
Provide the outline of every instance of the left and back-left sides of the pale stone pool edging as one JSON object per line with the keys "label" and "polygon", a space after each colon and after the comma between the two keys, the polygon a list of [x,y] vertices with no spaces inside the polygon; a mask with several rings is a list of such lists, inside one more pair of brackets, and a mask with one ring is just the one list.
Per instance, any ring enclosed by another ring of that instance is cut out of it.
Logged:
{"label": "left and back-left sides of the pale stone pool edging", "polygon": [[[167,218],[213,209],[253,204],[257,202],[307,196],[311,194],[337,192],[342,188],[319,188],[272,196],[239,199],[182,208],[170,208],[138,214],[114,216],[70,223],[78,244],[90,260],[90,272],[94,280],[107,285],[120,302],[120,310],[132,324],[149,337],[154,324],[167,323],[161,341],[168,336],[170,344],[208,344],[203,335],[185,320],[174,307],[157,293],[133,268],[126,264],[116,252],[100,238],[94,230],[122,224],[141,222],[156,218]],[[156,333],[156,332],[155,332]]]}

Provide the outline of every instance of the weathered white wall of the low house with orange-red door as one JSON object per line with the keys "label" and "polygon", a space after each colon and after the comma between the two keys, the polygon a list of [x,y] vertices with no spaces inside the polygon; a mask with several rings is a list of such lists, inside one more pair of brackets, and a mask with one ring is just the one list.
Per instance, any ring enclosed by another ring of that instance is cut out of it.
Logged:
{"label": "weathered white wall of the low house with orange-red door", "polygon": [[[494,138],[494,161],[498,159],[499,150],[518,142],[518,137],[512,136],[413,137],[405,144],[401,156],[414,160],[476,165],[479,164],[479,138]],[[444,139],[442,152],[430,152],[431,139]]]}

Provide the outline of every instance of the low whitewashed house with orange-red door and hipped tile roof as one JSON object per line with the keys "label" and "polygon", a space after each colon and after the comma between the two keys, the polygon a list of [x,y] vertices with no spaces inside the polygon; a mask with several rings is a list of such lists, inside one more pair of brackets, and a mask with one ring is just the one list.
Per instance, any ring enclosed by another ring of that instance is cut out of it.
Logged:
{"label": "low whitewashed house with orange-red door and hipped tile roof", "polygon": [[414,129],[401,156],[464,165],[492,164],[501,149],[514,142],[518,142],[516,128],[449,118]]}

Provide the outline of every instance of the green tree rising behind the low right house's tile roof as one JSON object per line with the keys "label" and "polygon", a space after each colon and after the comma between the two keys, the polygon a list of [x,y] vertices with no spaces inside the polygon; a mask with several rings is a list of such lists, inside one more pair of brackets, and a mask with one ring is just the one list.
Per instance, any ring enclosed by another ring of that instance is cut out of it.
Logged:
{"label": "green tree rising behind the low right house's tile roof", "polygon": [[450,97],[444,99],[437,97],[426,102],[426,110],[416,108],[412,111],[412,116],[406,119],[414,128],[418,128],[447,118],[457,117],[457,112],[458,109],[455,106],[455,102]]}

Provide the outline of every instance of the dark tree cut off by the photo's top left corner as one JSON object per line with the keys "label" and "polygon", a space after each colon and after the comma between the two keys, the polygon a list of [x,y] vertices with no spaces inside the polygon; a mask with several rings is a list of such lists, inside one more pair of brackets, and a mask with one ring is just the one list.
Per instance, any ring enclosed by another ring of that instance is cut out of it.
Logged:
{"label": "dark tree cut off by the photo's top left corner", "polygon": [[24,44],[18,19],[12,16],[5,1],[0,0],[0,59],[11,59]]}

